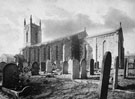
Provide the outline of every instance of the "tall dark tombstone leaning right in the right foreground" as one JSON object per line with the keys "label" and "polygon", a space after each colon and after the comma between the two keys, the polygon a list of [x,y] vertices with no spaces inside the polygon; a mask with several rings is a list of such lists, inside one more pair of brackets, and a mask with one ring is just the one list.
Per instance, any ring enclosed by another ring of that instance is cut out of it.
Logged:
{"label": "tall dark tombstone leaning right in the right foreground", "polygon": [[99,99],[107,99],[111,61],[111,52],[106,52],[102,61],[102,69],[99,84]]}

